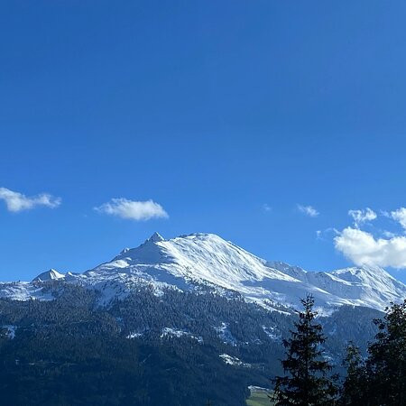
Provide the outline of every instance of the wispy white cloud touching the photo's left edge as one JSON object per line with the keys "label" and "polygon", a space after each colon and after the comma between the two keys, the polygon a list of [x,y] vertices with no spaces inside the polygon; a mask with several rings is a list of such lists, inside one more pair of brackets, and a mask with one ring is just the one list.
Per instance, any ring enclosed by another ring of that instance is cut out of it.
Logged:
{"label": "wispy white cloud touching the photo's left edge", "polygon": [[19,212],[35,208],[37,206],[45,206],[47,208],[58,208],[62,201],[61,198],[55,198],[48,193],[42,193],[36,196],[25,196],[10,189],[0,188],[0,199],[5,200],[5,205],[9,211]]}

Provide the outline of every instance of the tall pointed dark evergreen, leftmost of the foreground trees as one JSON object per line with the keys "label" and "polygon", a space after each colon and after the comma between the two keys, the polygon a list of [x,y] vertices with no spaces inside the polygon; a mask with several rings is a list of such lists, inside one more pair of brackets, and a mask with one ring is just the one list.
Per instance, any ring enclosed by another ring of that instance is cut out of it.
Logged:
{"label": "tall pointed dark evergreen, leftmost of the foreground trees", "polygon": [[273,401],[276,406],[325,406],[334,404],[337,388],[328,378],[331,365],[323,357],[320,346],[326,341],[322,327],[315,321],[314,299],[301,300],[296,331],[284,340],[286,359],[281,361],[285,376],[275,378]]}

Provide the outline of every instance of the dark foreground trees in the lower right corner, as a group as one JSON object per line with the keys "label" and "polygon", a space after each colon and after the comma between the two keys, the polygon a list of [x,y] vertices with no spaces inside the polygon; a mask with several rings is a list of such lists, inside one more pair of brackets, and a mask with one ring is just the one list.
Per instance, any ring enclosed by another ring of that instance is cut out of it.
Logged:
{"label": "dark foreground trees in the lower right corner, as a group", "polygon": [[301,300],[303,310],[283,341],[284,375],[274,379],[271,401],[276,406],[404,406],[406,405],[406,300],[392,304],[384,318],[376,318],[378,333],[363,356],[359,347],[346,348],[346,377],[333,369],[323,346],[327,337],[317,322],[314,300]]}

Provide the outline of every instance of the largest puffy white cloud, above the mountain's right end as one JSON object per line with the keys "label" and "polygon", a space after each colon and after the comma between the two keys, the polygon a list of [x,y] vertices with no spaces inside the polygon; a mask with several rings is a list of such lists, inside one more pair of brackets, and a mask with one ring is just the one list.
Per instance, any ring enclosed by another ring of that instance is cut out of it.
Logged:
{"label": "largest puffy white cloud, above the mountain's right end", "polygon": [[378,238],[360,230],[346,227],[334,238],[336,249],[356,265],[406,268],[406,237]]}

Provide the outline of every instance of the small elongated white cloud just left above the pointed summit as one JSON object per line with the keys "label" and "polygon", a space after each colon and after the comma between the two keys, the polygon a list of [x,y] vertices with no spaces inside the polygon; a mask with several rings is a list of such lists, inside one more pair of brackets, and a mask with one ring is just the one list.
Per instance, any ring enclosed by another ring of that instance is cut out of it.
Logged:
{"label": "small elongated white cloud just left above the pointed summit", "polygon": [[100,213],[138,221],[169,217],[161,205],[152,200],[134,201],[126,198],[112,198],[109,202],[95,208],[95,210]]}

